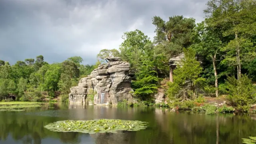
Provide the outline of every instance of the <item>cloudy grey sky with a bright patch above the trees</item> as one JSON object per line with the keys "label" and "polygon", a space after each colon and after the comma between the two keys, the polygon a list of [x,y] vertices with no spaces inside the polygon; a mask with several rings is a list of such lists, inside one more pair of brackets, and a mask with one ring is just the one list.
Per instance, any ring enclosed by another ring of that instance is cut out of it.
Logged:
{"label": "cloudy grey sky with a bright patch above the trees", "polygon": [[207,1],[0,0],[0,60],[81,56],[83,64],[94,64],[100,50],[119,48],[124,32],[139,29],[153,40],[154,16],[204,20]]}

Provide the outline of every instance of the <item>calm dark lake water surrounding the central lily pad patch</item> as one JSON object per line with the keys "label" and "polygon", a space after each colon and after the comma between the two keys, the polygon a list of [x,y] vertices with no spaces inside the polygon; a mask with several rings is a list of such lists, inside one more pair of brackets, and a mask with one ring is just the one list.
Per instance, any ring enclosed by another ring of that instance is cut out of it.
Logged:
{"label": "calm dark lake water surrounding the central lily pad patch", "polygon": [[[44,128],[59,120],[122,119],[148,122],[140,131],[83,134]],[[0,112],[0,144],[242,144],[256,136],[256,116],[189,114],[161,108],[48,104]]]}

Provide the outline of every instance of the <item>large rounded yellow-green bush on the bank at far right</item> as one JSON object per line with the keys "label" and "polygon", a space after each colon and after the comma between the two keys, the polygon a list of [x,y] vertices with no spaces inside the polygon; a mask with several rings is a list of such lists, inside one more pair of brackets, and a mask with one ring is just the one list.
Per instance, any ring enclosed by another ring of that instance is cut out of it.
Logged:
{"label": "large rounded yellow-green bush on the bank at far right", "polygon": [[242,75],[239,80],[234,76],[228,77],[226,88],[228,90],[228,99],[236,110],[248,111],[249,105],[255,102],[256,89],[247,75]]}

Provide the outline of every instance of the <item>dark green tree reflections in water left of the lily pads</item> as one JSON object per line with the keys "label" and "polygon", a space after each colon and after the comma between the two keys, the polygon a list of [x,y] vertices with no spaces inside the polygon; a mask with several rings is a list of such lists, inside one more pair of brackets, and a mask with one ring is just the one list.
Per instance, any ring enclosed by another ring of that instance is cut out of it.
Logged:
{"label": "dark green tree reflections in water left of the lily pads", "polygon": [[14,140],[21,140],[24,144],[41,144],[42,138],[59,138],[62,142],[78,142],[80,133],[52,132],[44,128],[44,125],[58,121],[56,117],[30,116],[21,114],[1,113],[0,116],[0,140],[5,141],[8,134]]}

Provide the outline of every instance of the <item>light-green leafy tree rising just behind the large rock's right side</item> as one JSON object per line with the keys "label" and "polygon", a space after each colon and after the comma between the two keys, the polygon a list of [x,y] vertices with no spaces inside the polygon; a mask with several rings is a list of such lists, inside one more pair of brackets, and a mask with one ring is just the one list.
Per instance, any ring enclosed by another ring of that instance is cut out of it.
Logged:
{"label": "light-green leafy tree rising just behind the large rock's right side", "polygon": [[136,69],[139,63],[140,55],[143,54],[144,46],[152,43],[148,36],[142,31],[136,29],[134,31],[125,32],[122,36],[124,42],[120,45],[120,56],[131,64],[131,69]]}

